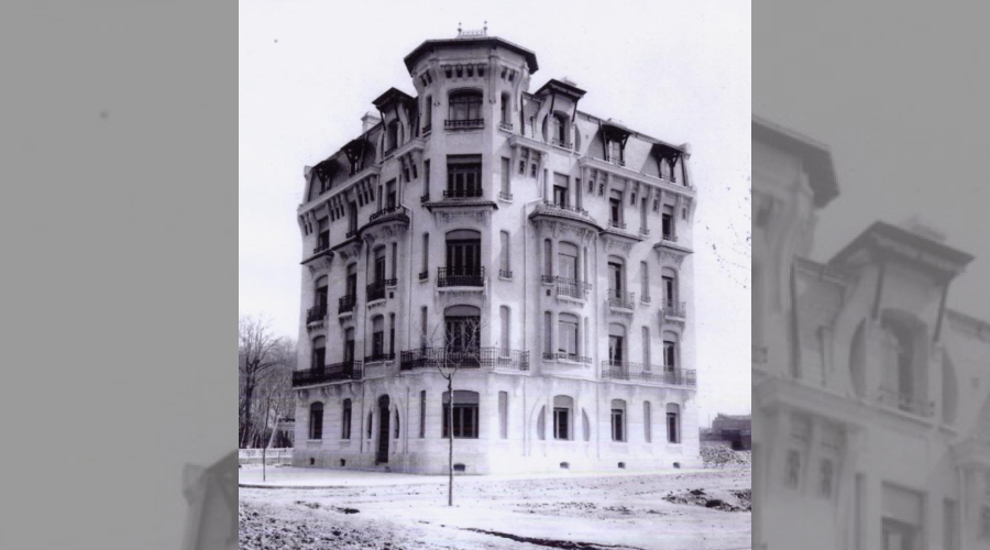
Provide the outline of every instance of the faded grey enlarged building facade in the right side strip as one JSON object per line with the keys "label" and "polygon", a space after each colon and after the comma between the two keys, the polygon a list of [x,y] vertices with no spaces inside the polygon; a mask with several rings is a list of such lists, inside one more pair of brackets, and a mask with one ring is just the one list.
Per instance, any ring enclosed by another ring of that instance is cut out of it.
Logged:
{"label": "faded grey enlarged building facade in the right side strip", "polygon": [[910,222],[813,262],[831,153],[752,147],[755,548],[990,548],[990,324],[946,307],[972,257]]}

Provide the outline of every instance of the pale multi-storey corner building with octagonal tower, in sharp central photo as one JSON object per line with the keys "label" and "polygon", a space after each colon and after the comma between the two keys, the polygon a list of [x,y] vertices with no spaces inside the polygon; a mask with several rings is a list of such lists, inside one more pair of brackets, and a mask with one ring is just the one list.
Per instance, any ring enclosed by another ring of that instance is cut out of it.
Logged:
{"label": "pale multi-storey corner building with octagonal tower, in sharp central photo", "polygon": [[449,429],[465,473],[697,464],[688,147],[486,32],[405,64],[305,172],[295,464],[441,473]]}

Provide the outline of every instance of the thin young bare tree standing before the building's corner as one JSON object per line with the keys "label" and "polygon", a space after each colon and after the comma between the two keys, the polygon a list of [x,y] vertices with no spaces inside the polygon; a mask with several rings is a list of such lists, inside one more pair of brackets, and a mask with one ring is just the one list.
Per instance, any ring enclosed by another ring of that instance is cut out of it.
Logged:
{"label": "thin young bare tree standing before the building's corner", "polygon": [[[458,372],[462,367],[477,369],[482,364],[481,332],[482,328],[487,323],[482,322],[480,318],[468,319],[458,327],[448,327],[447,323],[433,327],[430,341],[441,341],[440,356],[436,358],[433,363],[439,371],[440,376],[447,381],[447,440],[448,440],[448,488],[447,504],[453,506],[453,406],[454,389],[453,381]],[[438,334],[440,332],[440,334]]]}

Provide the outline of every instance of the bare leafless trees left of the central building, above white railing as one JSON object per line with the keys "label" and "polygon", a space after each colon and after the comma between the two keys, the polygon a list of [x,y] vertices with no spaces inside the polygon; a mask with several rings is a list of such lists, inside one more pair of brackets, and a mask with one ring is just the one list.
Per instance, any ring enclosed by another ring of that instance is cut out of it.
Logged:
{"label": "bare leafless trees left of the central building, above white railing", "polygon": [[238,444],[252,442],[255,432],[254,413],[260,385],[287,361],[286,340],[276,337],[264,318],[242,316],[238,319],[238,377],[240,429]]}

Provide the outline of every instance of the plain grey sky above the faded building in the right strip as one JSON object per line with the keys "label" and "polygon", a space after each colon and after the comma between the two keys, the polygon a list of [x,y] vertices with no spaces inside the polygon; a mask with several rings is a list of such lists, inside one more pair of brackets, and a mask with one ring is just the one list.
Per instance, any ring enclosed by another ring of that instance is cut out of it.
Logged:
{"label": "plain grey sky above the faded building in the right strip", "polygon": [[990,319],[990,9],[979,4],[758,0],[752,109],[833,151],[842,195],[821,213],[815,258],[873,221],[920,215],[977,256],[949,306]]}

